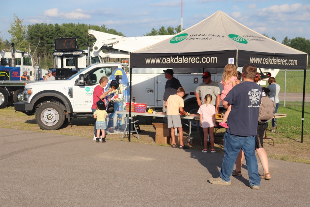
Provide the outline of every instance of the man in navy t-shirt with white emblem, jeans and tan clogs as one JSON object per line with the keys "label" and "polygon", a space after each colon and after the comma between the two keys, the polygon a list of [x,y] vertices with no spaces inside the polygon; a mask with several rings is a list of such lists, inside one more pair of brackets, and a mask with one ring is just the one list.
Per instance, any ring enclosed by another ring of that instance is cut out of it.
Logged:
{"label": "man in navy t-shirt with white emblem, jeans and tan clogs", "polygon": [[216,185],[230,185],[230,176],[237,155],[242,148],[246,158],[246,165],[250,178],[249,186],[259,189],[260,176],[258,175],[257,159],[255,156],[255,135],[257,134],[257,121],[262,89],[254,82],[257,68],[247,64],[242,69],[243,83],[237,84],[224,98],[232,105],[227,119],[224,135],[224,158],[219,178],[210,178],[210,183]]}

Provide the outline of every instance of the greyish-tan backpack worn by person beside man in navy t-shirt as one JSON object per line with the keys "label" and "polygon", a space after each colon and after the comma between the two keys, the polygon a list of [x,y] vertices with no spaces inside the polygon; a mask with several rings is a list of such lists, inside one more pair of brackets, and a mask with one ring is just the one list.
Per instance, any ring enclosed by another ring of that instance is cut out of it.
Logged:
{"label": "greyish-tan backpack worn by person beside man in navy t-shirt", "polygon": [[263,96],[259,106],[259,124],[265,124],[274,118],[276,110],[276,102],[272,101],[269,97]]}

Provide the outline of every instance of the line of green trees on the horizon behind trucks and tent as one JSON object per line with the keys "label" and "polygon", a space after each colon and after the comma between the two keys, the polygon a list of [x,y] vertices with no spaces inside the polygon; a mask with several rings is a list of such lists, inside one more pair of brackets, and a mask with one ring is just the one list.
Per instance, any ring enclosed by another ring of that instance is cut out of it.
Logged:
{"label": "line of green trees on the horizon behind trucks and tent", "polygon": [[[54,57],[52,52],[55,50],[55,38],[77,37],[77,44],[79,49],[84,50],[87,48],[86,43],[90,43],[91,45],[96,41],[94,37],[88,35],[88,29],[124,36],[123,33],[118,32],[115,29],[106,28],[105,25],[98,26],[80,23],[64,23],[61,25],[53,25],[47,23],[37,23],[34,25],[26,26],[23,25],[23,20],[19,19],[18,16],[14,14],[14,22],[11,23],[11,29],[8,30],[8,32],[11,34],[10,42],[8,40],[2,41],[2,38],[0,37],[0,50],[11,49],[11,42],[13,42],[15,43],[16,50],[31,52],[32,55],[40,57],[42,68],[51,68],[54,67]],[[179,32],[181,32],[181,25],[175,28],[165,28],[162,26],[159,29],[152,28],[151,32],[144,34],[144,36],[177,34]],[[268,37],[266,34],[263,35]],[[274,37],[271,37],[271,39],[276,41],[276,38]],[[288,37],[285,37],[282,41],[282,44],[310,54],[309,39],[303,37],[289,39]],[[310,60],[308,59],[308,65],[310,65],[309,63]]]}

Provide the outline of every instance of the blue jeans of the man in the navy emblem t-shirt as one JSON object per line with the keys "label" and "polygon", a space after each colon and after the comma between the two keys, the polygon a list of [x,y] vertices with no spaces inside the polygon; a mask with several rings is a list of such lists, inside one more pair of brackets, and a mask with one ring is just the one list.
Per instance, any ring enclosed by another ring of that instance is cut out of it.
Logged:
{"label": "blue jeans of the man in the navy emblem t-shirt", "polygon": [[235,160],[241,148],[246,158],[250,184],[252,186],[259,186],[261,178],[258,175],[257,159],[255,156],[255,136],[239,137],[225,132],[223,166],[219,171],[219,177],[223,181],[230,182],[229,177],[232,175]]}

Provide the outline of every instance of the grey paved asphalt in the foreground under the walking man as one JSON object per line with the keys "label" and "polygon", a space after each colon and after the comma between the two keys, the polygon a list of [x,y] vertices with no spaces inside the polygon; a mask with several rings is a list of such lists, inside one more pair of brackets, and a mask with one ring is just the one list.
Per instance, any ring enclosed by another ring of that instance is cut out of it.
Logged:
{"label": "grey paved asphalt in the foreground under the walking man", "polygon": [[[222,153],[0,128],[0,206],[309,206],[309,164],[270,160],[260,190]],[[259,172],[263,172],[259,163]]]}

